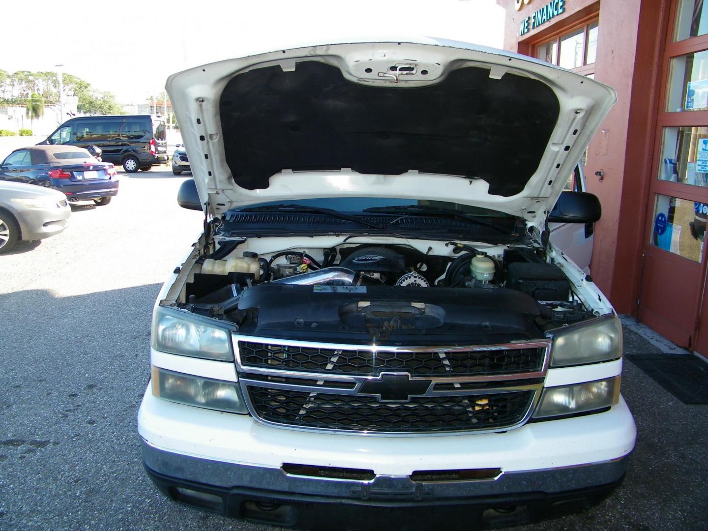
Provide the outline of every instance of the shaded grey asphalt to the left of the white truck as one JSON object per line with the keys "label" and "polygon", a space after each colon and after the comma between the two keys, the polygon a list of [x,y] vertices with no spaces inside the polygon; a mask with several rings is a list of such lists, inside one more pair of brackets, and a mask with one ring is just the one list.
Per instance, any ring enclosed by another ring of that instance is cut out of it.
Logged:
{"label": "shaded grey asphalt to the left of the white truck", "polygon": [[[112,529],[148,529],[160,515],[181,527],[144,474],[135,427],[159,289],[0,295],[0,462],[2,483],[13,485],[0,528],[96,527],[99,514]],[[146,500],[146,513],[130,511]],[[114,503],[121,510],[105,510]],[[199,515],[188,519],[200,527]]]}

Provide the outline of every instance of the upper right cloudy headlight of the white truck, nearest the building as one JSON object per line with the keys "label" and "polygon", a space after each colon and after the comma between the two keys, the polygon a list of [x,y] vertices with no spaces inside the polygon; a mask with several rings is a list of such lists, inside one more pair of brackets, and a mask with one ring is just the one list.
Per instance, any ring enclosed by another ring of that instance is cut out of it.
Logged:
{"label": "upper right cloudy headlight of the white truck, nearest the building", "polygon": [[616,316],[555,329],[548,335],[553,338],[551,367],[622,358],[622,323]]}

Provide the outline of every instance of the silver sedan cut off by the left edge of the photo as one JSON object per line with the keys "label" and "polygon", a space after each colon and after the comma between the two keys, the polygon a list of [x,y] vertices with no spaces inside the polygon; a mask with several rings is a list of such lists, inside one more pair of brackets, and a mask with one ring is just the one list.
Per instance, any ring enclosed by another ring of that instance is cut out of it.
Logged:
{"label": "silver sedan cut off by the left edge of the photo", "polygon": [[39,240],[62,232],[72,209],[67,196],[43,186],[0,181],[0,253],[18,240]]}

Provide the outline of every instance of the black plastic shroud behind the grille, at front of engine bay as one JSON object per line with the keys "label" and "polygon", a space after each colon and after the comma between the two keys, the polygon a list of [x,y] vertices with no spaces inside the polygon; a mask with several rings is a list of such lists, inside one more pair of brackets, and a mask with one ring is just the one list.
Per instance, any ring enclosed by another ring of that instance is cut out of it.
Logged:
{"label": "black plastic shroud behind the grille, at front of engine bay", "polygon": [[388,322],[387,341],[421,346],[543,338],[536,316],[532,297],[503,288],[278,284],[244,291],[229,314],[246,335],[309,341],[367,343]]}

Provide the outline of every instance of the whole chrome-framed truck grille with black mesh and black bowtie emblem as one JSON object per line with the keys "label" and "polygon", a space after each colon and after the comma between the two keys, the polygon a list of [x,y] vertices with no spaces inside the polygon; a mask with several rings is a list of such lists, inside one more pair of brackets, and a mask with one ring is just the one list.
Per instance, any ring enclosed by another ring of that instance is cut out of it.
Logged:
{"label": "whole chrome-framed truck grille with black mesh and black bowtie emblem", "polygon": [[373,347],[234,334],[251,414],[334,433],[442,434],[523,425],[540,395],[549,341]]}

